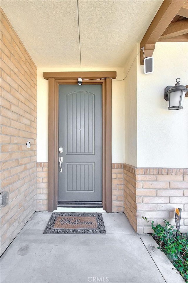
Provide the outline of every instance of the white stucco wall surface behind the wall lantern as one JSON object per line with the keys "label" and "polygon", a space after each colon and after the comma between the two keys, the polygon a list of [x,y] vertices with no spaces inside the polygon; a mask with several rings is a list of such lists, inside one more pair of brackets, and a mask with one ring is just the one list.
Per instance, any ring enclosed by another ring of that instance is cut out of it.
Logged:
{"label": "white stucco wall surface behind the wall lantern", "polygon": [[164,88],[176,78],[188,84],[188,43],[157,42],[153,57],[147,75],[137,60],[137,166],[187,168],[188,98],[182,110],[168,110]]}

